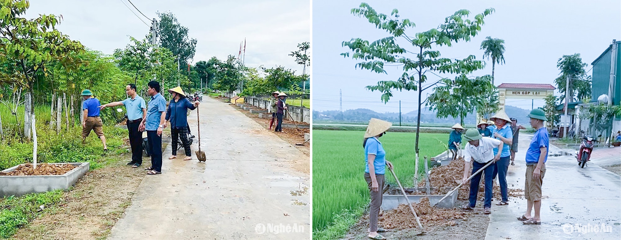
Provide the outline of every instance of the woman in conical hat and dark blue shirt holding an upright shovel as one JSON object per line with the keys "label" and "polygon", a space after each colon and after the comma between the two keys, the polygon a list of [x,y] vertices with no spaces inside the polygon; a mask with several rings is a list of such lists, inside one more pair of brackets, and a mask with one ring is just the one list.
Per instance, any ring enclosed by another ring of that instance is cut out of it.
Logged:
{"label": "woman in conical hat and dark blue shirt holding an upright shovel", "polygon": [[[168,92],[173,97],[170,99],[168,109],[166,109],[166,121],[170,122],[170,135],[172,139],[172,155],[168,159],[175,159],[177,157],[178,139],[181,139],[183,149],[186,152],[186,157],[183,160],[192,159],[192,151],[190,150],[190,144],[188,140],[188,109],[194,110],[199,104],[199,101],[191,103],[186,94],[181,90],[180,86],[171,88]],[[167,122],[164,122],[166,127]]]}

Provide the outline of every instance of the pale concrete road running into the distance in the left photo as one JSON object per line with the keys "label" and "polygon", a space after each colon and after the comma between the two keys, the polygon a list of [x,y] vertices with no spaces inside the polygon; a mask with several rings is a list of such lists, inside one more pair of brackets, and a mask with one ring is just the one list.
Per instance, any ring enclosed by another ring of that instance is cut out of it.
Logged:
{"label": "pale concrete road running into the distance in the left photo", "polygon": [[[169,145],[109,239],[310,238],[309,173],[293,168],[309,157],[227,103],[205,98],[199,110],[207,162],[183,149],[168,160]],[[196,110],[188,119],[198,137]]]}

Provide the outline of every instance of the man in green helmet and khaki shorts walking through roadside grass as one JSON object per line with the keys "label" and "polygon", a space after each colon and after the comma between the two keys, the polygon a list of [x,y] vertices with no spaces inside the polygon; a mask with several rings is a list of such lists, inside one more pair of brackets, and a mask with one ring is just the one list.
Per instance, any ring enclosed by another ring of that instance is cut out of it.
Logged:
{"label": "man in green helmet and khaki shorts walking through roadside grass", "polygon": [[84,111],[84,119],[82,121],[82,144],[86,141],[86,137],[91,134],[91,130],[95,131],[97,137],[101,139],[101,143],[104,144],[104,151],[108,150],[106,145],[106,136],[104,136],[103,124],[101,118],[99,118],[99,99],[93,96],[91,90],[82,91],[82,98],[84,104],[82,110]]}

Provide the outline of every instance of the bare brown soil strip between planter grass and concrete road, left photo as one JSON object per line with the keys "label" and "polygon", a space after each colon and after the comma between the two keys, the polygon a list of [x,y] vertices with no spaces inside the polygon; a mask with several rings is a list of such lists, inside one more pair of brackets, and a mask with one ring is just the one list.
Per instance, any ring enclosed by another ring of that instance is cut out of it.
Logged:
{"label": "bare brown soil strip between planter grass and concrete road, left photo", "polygon": [[[143,168],[125,165],[129,154],[111,165],[86,173],[63,193],[60,206],[19,229],[16,239],[105,239],[145,176]],[[148,165],[149,158],[143,163]],[[39,167],[37,167],[38,169]]]}

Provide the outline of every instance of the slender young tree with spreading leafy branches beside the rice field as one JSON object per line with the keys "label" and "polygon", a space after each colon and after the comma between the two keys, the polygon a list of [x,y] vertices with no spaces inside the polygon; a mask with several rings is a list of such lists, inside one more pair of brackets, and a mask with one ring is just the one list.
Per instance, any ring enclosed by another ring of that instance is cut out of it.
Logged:
{"label": "slender young tree with spreading leafy branches beside the rice field", "polygon": [[[356,64],[356,68],[360,67],[371,70],[371,72],[386,73],[385,64],[399,65],[402,70],[401,77],[397,80],[379,81],[377,85],[366,86],[366,88],[371,91],[381,91],[383,93],[381,99],[384,102],[389,101],[392,90],[418,91],[419,106],[415,140],[416,165],[419,158],[420,109],[424,104],[422,91],[442,82],[442,80],[438,80],[423,87],[423,83],[427,81],[427,76],[431,72],[468,74],[483,68],[483,62],[476,60],[474,55],[469,55],[461,60],[444,58],[440,57],[440,51],[432,50],[432,48],[451,47],[454,42],[470,40],[481,30],[484,17],[492,14],[492,12],[494,9],[486,9],[471,20],[465,19],[469,16],[470,11],[456,11],[455,14],[446,17],[445,22],[438,27],[425,32],[410,33],[410,30],[415,27],[414,22],[409,19],[400,19],[397,9],[392,10],[389,16],[376,12],[364,2],[360,4],[360,7],[351,9],[354,16],[365,17],[369,23],[378,29],[386,30],[389,35],[373,42],[360,38],[343,42],[343,47],[348,47],[351,53],[346,52],[341,53],[341,55],[344,57],[351,55],[353,59],[360,60],[361,62]],[[399,42],[410,48],[401,47]]]}

